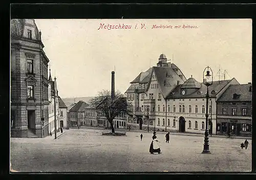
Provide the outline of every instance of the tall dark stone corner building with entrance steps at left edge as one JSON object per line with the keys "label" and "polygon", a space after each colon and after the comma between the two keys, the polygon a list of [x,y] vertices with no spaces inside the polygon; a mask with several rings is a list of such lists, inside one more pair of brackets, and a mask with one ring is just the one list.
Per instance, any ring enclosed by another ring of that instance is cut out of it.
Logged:
{"label": "tall dark stone corner building with entrance steps at left edge", "polygon": [[34,19],[11,19],[11,136],[48,136],[48,62]]}

